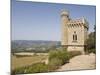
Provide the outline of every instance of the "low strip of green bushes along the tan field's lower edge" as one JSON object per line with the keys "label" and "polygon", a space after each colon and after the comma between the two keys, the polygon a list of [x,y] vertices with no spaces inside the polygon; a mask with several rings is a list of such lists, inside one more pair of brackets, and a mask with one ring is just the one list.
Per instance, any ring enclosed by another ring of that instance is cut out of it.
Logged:
{"label": "low strip of green bushes along the tan field's lower edge", "polygon": [[41,72],[48,72],[48,65],[45,65],[44,63],[36,63],[30,66],[17,68],[12,71],[12,75],[26,74],[26,73],[41,73]]}

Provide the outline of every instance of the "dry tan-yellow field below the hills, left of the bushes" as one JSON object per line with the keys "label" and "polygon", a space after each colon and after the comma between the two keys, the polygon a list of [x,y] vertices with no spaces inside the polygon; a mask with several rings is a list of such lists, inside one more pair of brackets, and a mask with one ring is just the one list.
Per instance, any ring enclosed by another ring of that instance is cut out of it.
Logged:
{"label": "dry tan-yellow field below the hills, left of the bushes", "polygon": [[33,55],[33,56],[25,56],[25,57],[16,57],[11,55],[11,68],[16,69],[19,67],[31,65],[38,62],[44,62],[48,58],[47,55]]}

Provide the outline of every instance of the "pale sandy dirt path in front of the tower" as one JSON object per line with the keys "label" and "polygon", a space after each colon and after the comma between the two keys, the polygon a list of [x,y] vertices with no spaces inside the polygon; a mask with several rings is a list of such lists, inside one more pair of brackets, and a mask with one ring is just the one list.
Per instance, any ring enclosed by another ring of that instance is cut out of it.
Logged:
{"label": "pale sandy dirt path in front of the tower", "polygon": [[61,66],[57,71],[95,69],[95,54],[79,55],[70,60],[69,63]]}

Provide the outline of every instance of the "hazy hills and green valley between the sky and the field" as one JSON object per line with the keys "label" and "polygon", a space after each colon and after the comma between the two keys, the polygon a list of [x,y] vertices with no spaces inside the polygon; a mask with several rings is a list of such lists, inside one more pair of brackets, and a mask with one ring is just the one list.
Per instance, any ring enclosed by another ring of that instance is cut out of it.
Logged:
{"label": "hazy hills and green valley between the sky and the field", "polygon": [[11,50],[14,51],[46,51],[60,47],[60,41],[44,40],[12,40]]}

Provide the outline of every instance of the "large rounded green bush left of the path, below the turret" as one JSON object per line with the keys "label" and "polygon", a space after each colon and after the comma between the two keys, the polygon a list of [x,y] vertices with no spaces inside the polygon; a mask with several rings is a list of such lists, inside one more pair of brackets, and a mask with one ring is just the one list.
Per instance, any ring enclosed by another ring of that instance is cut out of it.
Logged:
{"label": "large rounded green bush left of the path, below the turret", "polygon": [[65,64],[66,62],[69,62],[69,54],[67,50],[56,50],[49,53],[49,63],[52,63],[52,65],[59,66]]}

